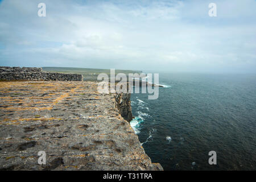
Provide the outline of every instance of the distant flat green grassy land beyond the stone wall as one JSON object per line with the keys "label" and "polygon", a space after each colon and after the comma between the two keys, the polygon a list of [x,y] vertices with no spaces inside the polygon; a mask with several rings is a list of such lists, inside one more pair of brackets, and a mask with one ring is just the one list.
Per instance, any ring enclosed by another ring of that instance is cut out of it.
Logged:
{"label": "distant flat green grassy land beyond the stone wall", "polygon": [[[100,73],[106,73],[110,77],[110,69],[92,69],[92,68],[68,68],[68,67],[42,67],[43,72],[58,73],[77,73],[84,76],[84,80],[96,81]],[[141,73],[141,71],[115,69],[115,75],[118,73]]]}

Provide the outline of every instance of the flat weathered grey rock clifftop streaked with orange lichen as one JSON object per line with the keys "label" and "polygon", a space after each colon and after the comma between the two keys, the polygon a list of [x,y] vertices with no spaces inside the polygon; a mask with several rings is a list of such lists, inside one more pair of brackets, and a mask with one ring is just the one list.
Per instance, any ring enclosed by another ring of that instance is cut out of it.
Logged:
{"label": "flat weathered grey rock clifftop streaked with orange lichen", "polygon": [[130,119],[129,97],[96,82],[0,82],[0,169],[162,170],[119,114]]}

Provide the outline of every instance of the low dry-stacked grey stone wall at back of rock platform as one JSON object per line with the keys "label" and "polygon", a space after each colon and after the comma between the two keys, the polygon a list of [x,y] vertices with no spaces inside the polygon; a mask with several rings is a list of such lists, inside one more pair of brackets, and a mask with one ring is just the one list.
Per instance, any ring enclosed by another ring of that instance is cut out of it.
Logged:
{"label": "low dry-stacked grey stone wall at back of rock platform", "polygon": [[42,72],[42,68],[0,67],[0,80],[82,81],[82,75]]}

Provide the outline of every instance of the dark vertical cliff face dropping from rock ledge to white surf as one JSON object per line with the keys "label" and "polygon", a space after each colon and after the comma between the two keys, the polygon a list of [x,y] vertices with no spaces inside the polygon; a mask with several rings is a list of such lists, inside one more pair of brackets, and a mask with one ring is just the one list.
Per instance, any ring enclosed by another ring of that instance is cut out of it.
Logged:
{"label": "dark vertical cliff face dropping from rock ledge to white surf", "polygon": [[122,117],[128,122],[133,119],[133,114],[131,113],[130,97],[130,93],[117,93],[115,95],[115,101],[117,102],[116,107],[119,111],[119,114],[121,114]]}

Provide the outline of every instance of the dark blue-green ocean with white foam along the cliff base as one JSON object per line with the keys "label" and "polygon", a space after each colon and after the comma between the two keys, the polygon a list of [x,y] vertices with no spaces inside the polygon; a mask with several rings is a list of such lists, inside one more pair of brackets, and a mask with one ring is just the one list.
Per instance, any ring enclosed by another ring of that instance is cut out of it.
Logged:
{"label": "dark blue-green ocean with white foam along the cliff base", "polygon": [[130,124],[152,162],[164,170],[256,169],[256,75],[159,73],[159,84],[157,100],[131,94]]}

